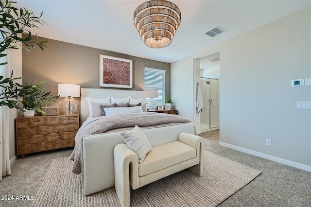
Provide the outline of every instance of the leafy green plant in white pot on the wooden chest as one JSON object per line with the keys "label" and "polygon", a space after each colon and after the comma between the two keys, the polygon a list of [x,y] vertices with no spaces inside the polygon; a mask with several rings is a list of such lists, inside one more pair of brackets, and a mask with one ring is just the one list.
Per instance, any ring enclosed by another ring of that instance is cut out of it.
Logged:
{"label": "leafy green plant in white pot on the wooden chest", "polygon": [[20,109],[24,117],[33,117],[36,112],[45,113],[42,111],[42,106],[57,103],[56,99],[59,96],[52,96],[51,92],[42,91],[44,87],[41,85],[44,83],[20,85],[18,96],[21,97]]}

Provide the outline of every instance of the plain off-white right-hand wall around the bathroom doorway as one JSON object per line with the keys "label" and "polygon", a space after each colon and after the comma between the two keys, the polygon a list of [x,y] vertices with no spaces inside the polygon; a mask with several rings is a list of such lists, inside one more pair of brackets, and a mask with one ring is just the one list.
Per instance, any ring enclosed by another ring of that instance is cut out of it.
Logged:
{"label": "plain off-white right-hand wall around the bathroom doorway", "polygon": [[291,80],[311,77],[310,9],[171,64],[171,96],[179,97],[180,115],[197,120],[188,110],[195,104],[193,59],[220,51],[221,144],[310,171],[311,110],[296,109],[296,102],[311,101],[311,86],[291,87]]}

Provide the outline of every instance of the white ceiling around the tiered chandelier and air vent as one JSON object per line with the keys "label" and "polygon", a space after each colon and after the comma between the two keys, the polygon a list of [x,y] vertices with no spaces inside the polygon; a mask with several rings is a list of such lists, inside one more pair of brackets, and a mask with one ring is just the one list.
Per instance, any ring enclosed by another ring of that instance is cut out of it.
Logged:
{"label": "white ceiling around the tiered chandelier and air vent", "polygon": [[[147,47],[133,23],[134,10],[146,0],[17,0],[48,25],[38,36],[172,63],[311,5],[310,0],[171,0],[181,24],[171,45]],[[205,33],[216,26],[226,31]]]}

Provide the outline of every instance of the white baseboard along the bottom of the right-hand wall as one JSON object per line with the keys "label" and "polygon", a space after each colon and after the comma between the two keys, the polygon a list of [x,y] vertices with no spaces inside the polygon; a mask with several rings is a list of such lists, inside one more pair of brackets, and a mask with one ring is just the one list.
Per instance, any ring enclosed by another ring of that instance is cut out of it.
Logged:
{"label": "white baseboard along the bottom of the right-hand wall", "polygon": [[300,164],[300,163],[297,163],[297,162],[293,162],[293,161],[289,161],[289,160],[286,160],[286,159],[282,159],[282,158],[279,158],[279,157],[276,157],[276,156],[266,155],[266,154],[259,153],[259,152],[253,151],[253,150],[249,150],[249,149],[245,149],[245,148],[242,148],[242,147],[238,147],[238,146],[235,146],[235,145],[232,145],[232,144],[227,144],[227,143],[224,143],[224,142],[221,142],[221,141],[219,142],[219,145],[222,145],[222,146],[234,149],[234,150],[238,150],[238,151],[241,151],[243,153],[259,156],[259,157],[262,157],[262,158],[265,158],[265,159],[269,159],[269,160],[272,160],[272,161],[275,161],[275,162],[278,162],[278,163],[289,165],[289,166],[292,166],[294,168],[298,168],[298,169],[301,169],[301,170],[304,170],[304,171],[311,172],[311,166],[308,166],[308,165],[303,165],[303,164]]}

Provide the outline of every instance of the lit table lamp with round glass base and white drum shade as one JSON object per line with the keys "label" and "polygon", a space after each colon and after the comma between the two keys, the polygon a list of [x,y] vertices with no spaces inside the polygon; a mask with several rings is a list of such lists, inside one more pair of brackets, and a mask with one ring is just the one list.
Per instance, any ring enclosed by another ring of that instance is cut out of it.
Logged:
{"label": "lit table lamp with round glass base and white drum shade", "polygon": [[63,113],[66,115],[74,114],[78,106],[73,97],[80,97],[80,86],[75,84],[58,84],[58,95],[66,97],[61,104]]}

